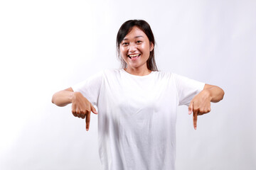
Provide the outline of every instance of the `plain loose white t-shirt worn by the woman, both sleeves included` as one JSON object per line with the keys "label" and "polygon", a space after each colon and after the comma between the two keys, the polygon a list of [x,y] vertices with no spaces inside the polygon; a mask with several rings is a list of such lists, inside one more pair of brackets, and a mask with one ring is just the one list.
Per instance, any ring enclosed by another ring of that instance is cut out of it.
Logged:
{"label": "plain loose white t-shirt worn by the woman, both sleeves included", "polygon": [[204,84],[171,72],[105,70],[72,86],[98,108],[104,170],[174,170],[176,111]]}

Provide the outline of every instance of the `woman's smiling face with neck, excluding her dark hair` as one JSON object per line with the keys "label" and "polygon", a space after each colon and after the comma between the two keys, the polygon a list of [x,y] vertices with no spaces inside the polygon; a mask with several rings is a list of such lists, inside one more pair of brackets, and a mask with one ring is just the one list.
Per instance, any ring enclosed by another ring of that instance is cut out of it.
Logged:
{"label": "woman's smiling face with neck, excluding her dark hair", "polygon": [[149,42],[149,38],[141,29],[134,26],[119,46],[122,58],[127,63],[128,70],[148,70],[146,61],[149,59],[149,54],[154,49],[154,45]]}

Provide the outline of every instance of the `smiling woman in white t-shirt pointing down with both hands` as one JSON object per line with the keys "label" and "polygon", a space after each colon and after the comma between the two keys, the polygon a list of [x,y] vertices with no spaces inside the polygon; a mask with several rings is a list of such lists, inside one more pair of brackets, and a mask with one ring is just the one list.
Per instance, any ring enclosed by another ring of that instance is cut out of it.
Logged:
{"label": "smiling woman in white t-shirt pointing down with both hands", "polygon": [[224,96],[218,86],[158,72],[154,44],[146,21],[123,23],[117,33],[123,69],[106,70],[53,95],[57,106],[72,103],[73,115],[86,119],[87,130],[97,106],[103,169],[174,169],[177,106],[193,112],[196,129],[197,116]]}

